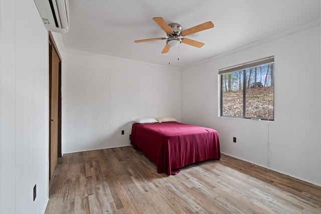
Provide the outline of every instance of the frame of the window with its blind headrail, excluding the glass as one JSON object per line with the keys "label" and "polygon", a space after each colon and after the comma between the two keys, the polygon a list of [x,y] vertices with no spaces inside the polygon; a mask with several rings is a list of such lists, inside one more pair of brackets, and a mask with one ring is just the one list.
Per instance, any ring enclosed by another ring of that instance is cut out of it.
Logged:
{"label": "frame of the window with its blind headrail, excluding the glass", "polygon": [[[246,69],[258,67],[260,65],[265,65],[265,64],[273,64],[273,73],[275,72],[275,64],[274,64],[274,56],[254,60],[251,62],[247,63],[242,63],[239,65],[235,66],[230,66],[227,68],[219,69],[219,79],[220,79],[220,117],[228,117],[228,118],[241,118],[241,119],[254,119],[254,120],[266,120],[266,121],[274,121],[275,116],[274,116],[274,74],[273,74],[273,118],[258,118],[258,117],[247,117],[246,116],[246,90],[247,90],[247,85],[245,84],[247,82],[246,79],[246,72],[244,72]],[[228,74],[236,71],[242,71],[243,73],[243,116],[230,116],[230,115],[223,115],[223,74]],[[271,80],[272,81],[272,80]]]}

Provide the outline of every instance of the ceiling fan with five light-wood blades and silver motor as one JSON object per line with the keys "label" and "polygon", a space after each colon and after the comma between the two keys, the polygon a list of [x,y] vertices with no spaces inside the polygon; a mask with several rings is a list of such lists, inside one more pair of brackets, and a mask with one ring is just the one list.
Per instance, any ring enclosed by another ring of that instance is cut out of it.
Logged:
{"label": "ceiling fan with five light-wood blades and silver motor", "polygon": [[197,48],[201,48],[204,45],[204,43],[187,39],[187,38],[179,38],[179,37],[185,37],[200,31],[214,28],[213,23],[209,21],[201,25],[182,31],[182,26],[180,24],[173,23],[168,25],[162,17],[154,17],[152,19],[153,21],[155,21],[155,23],[157,23],[157,25],[159,25],[159,27],[161,27],[166,32],[168,38],[161,37],[161,38],[153,38],[153,39],[146,39],[146,40],[136,40],[134,42],[141,43],[141,42],[150,42],[155,40],[166,40],[166,46],[162,54],[168,53],[171,47],[176,47],[181,43],[185,43]]}

